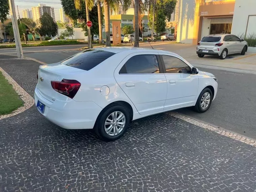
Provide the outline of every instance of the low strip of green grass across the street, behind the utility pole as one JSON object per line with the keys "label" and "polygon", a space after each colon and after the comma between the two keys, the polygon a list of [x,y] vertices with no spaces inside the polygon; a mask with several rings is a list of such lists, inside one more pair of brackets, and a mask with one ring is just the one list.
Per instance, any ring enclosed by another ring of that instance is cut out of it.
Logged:
{"label": "low strip of green grass across the street, behind the utility pole", "polygon": [[[36,47],[36,46],[53,46],[53,45],[75,45],[75,44],[85,44],[85,42],[79,42],[76,40],[63,40],[63,41],[42,41],[39,42],[38,44],[25,44],[22,43],[22,47]],[[10,45],[0,45],[0,49],[3,48],[15,48],[15,44],[10,44]]]}

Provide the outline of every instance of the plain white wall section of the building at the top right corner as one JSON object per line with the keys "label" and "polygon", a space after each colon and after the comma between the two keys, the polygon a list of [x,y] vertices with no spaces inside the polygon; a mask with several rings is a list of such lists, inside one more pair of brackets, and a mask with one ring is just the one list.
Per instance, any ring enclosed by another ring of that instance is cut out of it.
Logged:
{"label": "plain white wall section of the building at the top right corner", "polygon": [[[256,15],[256,0],[236,0],[231,33],[234,35],[245,34],[248,15]],[[256,34],[256,19],[250,17],[248,32]],[[248,34],[247,32],[247,34]]]}

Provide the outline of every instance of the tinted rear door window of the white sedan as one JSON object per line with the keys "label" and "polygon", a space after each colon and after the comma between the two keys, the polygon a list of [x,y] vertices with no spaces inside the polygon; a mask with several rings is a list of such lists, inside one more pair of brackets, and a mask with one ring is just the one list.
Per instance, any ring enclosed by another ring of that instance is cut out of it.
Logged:
{"label": "tinted rear door window of the white sedan", "polygon": [[159,73],[156,55],[136,55],[121,68],[119,74]]}

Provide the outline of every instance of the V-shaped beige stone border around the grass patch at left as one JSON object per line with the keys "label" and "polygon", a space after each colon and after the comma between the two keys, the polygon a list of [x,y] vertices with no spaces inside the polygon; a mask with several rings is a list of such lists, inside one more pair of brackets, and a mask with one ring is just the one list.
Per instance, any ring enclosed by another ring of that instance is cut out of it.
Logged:
{"label": "V-shaped beige stone border around the grass patch at left", "polygon": [[7,114],[7,115],[0,115],[0,120],[1,119],[5,119],[8,117],[12,117],[14,115],[17,115],[19,113],[22,113],[23,111],[29,109],[32,105],[34,105],[34,99],[33,97],[31,97],[17,82],[14,81],[13,78],[11,78],[11,76],[6,73],[1,67],[0,67],[0,71],[2,72],[2,74],[4,75],[4,77],[7,79],[7,81],[9,82],[9,84],[12,85],[14,91],[16,91],[21,99],[24,101],[24,106],[19,107],[18,109],[12,111],[12,113]]}

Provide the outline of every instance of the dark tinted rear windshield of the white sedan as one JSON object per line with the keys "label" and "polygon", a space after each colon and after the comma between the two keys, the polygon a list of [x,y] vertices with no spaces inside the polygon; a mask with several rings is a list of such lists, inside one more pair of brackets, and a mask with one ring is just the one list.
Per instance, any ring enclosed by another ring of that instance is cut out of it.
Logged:
{"label": "dark tinted rear windshield of the white sedan", "polygon": [[66,59],[61,64],[88,71],[113,55],[115,53],[89,49]]}

